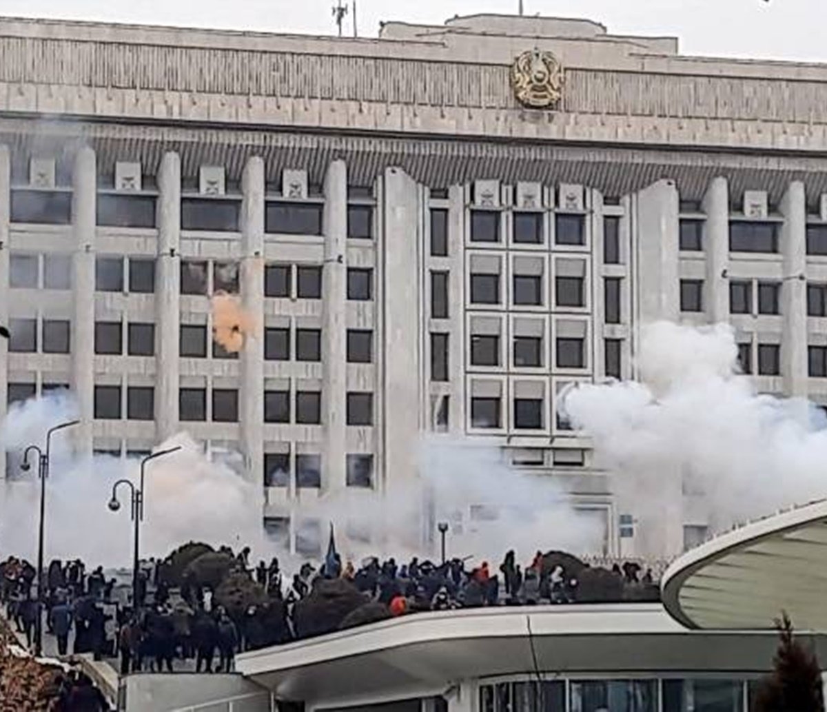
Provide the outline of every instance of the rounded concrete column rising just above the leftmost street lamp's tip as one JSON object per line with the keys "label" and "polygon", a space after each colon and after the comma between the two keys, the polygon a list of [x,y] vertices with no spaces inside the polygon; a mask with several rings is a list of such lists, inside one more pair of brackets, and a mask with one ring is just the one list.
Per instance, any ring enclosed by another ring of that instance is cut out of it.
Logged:
{"label": "rounded concrete column rising just above the leftmost street lamp's tip", "polygon": [[97,160],[88,146],[74,159],[72,226],[74,234],[74,319],[72,320],[72,387],[80,425],[74,430],[79,454],[92,453],[95,387],[95,204]]}

